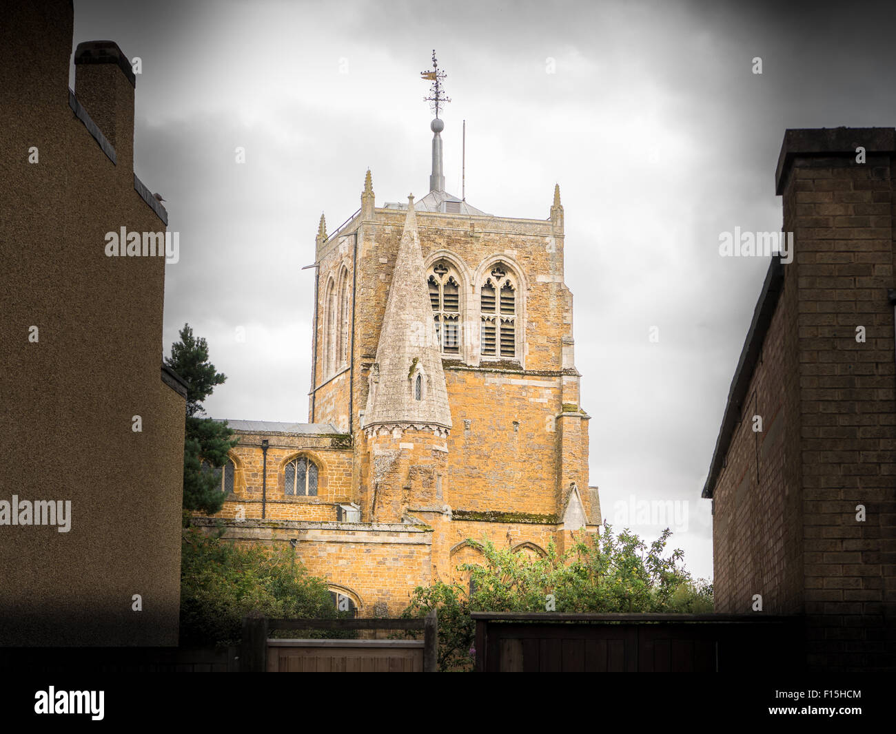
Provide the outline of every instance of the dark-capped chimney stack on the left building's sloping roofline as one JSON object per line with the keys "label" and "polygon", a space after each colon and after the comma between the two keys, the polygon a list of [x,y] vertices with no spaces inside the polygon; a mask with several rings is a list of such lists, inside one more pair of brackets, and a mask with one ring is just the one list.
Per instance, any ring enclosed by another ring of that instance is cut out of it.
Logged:
{"label": "dark-capped chimney stack on the left building's sloping roofline", "polygon": [[115,41],[85,41],[74,52],[74,94],[116,150],[116,169],[134,174],[134,84],[131,62]]}

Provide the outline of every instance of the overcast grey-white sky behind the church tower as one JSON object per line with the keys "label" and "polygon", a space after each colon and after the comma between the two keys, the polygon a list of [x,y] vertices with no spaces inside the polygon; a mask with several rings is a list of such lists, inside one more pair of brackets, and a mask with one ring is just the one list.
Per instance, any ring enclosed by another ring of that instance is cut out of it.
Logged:
{"label": "overcast grey-white sky behind the church tower", "polygon": [[299,268],[321,212],[332,230],[358,209],[367,167],[377,205],[426,193],[419,72],[435,48],[448,190],[461,192],[463,119],[471,204],[547,218],[560,184],[604,516],[683,503],[673,545],[711,576],[700,491],[768,267],[720,258],[719,233],[780,230],[788,127],[896,122],[888,4],[74,5],[75,44],[109,38],[142,58],[135,168],[180,233],[165,350],[186,321],[208,339],[228,375],[209,414],[307,420],[314,275]]}

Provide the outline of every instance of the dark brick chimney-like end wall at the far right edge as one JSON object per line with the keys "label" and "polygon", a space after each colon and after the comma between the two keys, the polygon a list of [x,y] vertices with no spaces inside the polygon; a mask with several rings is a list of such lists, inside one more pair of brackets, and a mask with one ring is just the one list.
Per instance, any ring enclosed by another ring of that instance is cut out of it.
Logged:
{"label": "dark brick chimney-like end wall at the far right edge", "polygon": [[882,138],[892,151],[892,131],[813,132],[785,141],[793,160],[781,182],[798,253],[808,663],[874,668],[896,622],[896,566],[886,564],[896,525],[892,153],[875,151]]}

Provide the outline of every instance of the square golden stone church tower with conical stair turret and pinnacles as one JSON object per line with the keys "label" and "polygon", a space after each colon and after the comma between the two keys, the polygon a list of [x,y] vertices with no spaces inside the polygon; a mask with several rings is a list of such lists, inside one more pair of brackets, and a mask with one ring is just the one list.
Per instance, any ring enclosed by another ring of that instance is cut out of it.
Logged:
{"label": "square golden stone church tower with conical stair turret and pinnacles", "polygon": [[368,171],[358,212],[318,237],[310,420],[352,435],[365,521],[597,525],[559,186],[547,219],[488,215],[444,191],[431,129],[425,197],[377,207]]}

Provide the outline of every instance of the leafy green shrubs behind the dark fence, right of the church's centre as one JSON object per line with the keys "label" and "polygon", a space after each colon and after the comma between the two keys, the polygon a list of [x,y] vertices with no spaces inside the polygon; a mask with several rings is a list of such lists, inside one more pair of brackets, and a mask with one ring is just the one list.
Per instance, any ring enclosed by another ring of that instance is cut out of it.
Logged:
{"label": "leafy green shrubs behind the dark fence, right of the church's centre", "polygon": [[439,618],[439,669],[471,670],[474,625],[470,611],[546,611],[548,594],[556,611],[565,612],[710,612],[712,585],[694,580],[683,565],[682,550],[666,552],[668,529],[648,546],[610,525],[559,554],[552,543],[547,555],[532,559],[492,542],[469,541],[482,550],[470,572],[472,593],[460,585],[436,582],[419,586],[403,615],[423,617],[435,609]]}

